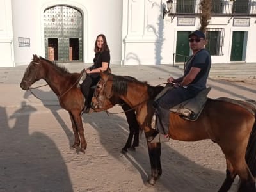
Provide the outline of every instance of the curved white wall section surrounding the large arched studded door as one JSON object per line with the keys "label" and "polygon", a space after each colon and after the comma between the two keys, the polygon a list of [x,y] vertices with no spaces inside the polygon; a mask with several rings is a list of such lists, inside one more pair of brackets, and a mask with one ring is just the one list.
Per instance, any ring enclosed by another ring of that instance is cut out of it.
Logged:
{"label": "curved white wall section surrounding the large arched studded door", "polygon": [[[3,0],[2,0],[3,1]],[[33,54],[44,54],[43,13],[49,6],[67,5],[80,10],[84,19],[83,60],[92,63],[95,38],[106,35],[111,63],[120,64],[122,49],[122,1],[120,0],[12,0],[16,65],[26,65]],[[31,47],[19,47],[18,38],[30,38]]]}

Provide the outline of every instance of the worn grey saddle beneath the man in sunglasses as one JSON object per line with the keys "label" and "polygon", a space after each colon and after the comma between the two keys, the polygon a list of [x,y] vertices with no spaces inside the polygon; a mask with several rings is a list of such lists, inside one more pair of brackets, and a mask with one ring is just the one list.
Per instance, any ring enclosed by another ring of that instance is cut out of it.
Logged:
{"label": "worn grey saddle beneath the man in sunglasses", "polygon": [[173,113],[178,113],[182,118],[186,120],[195,121],[198,119],[200,113],[204,109],[207,101],[207,95],[210,92],[211,87],[202,90],[196,97],[185,100],[184,102],[173,106],[169,110]]}

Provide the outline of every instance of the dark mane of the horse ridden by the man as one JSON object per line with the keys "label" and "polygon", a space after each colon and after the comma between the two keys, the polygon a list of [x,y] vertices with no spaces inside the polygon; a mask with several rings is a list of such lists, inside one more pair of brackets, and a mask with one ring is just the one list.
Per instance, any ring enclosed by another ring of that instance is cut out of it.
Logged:
{"label": "dark mane of the horse ridden by the man", "polygon": [[109,74],[113,77],[112,92],[118,95],[127,95],[127,87],[129,83],[136,83],[140,86],[147,86],[148,95],[150,98],[156,97],[156,95],[163,90],[163,86],[150,86],[147,81],[139,81],[131,76],[116,76]]}

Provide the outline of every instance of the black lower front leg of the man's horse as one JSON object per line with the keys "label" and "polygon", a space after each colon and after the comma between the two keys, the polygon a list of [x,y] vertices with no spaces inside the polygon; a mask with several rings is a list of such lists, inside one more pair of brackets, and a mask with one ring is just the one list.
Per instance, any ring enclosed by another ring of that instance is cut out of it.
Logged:
{"label": "black lower front leg of the man's horse", "polygon": [[[147,138],[147,137],[146,137]],[[161,143],[150,143],[148,144],[148,155],[151,165],[151,177],[148,179],[149,184],[156,184],[156,180],[162,175],[161,166]]]}

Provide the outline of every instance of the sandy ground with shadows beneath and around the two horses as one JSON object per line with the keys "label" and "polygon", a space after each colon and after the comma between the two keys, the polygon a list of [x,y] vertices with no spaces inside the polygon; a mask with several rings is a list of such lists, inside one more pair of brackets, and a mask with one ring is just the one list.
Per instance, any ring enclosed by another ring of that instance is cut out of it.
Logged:
{"label": "sandy ground with shadows beneath and around the two horses", "polygon": [[[150,84],[163,83],[156,77]],[[256,100],[255,79],[210,79],[210,97]],[[163,175],[156,186],[150,175],[144,136],[136,151],[121,154],[128,136],[123,113],[83,115],[86,153],[70,148],[74,142],[67,111],[61,109],[49,88],[35,93],[38,100],[20,90],[18,84],[2,85],[10,93],[0,106],[0,191],[218,191],[225,179],[225,158],[210,140],[162,144]],[[13,91],[17,90],[17,91]],[[20,97],[10,102],[10,97]],[[13,93],[13,94],[12,94]],[[55,98],[56,99],[56,98]],[[7,103],[7,104],[6,104]],[[115,107],[109,111],[122,111]],[[237,180],[230,191],[236,191]]]}

